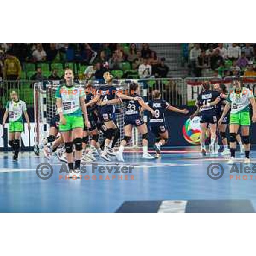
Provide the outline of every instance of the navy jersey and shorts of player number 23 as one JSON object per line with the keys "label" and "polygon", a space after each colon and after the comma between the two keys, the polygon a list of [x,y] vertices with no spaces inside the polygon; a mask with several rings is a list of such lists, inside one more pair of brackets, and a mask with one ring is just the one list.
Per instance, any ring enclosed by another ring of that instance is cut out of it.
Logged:
{"label": "navy jersey and shorts of player number 23", "polygon": [[[137,97],[136,93],[133,93],[131,97]],[[122,100],[125,103],[125,118],[124,118],[124,125],[135,125],[140,126],[144,124],[143,119],[140,116],[141,105],[139,100]]]}

